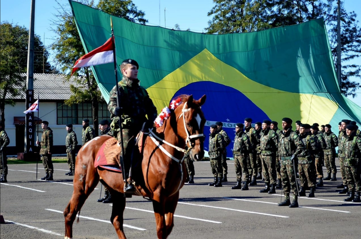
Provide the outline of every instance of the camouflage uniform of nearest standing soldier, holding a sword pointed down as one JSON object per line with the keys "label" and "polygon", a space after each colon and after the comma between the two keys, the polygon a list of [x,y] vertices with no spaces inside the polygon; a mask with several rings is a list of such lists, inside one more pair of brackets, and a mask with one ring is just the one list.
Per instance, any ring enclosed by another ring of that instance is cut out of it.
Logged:
{"label": "camouflage uniform of nearest standing soldier, holding a sword pointed down", "polygon": [[[292,188],[293,196],[297,199],[296,172],[293,170],[291,157],[300,154],[305,149],[305,145],[292,128],[289,128],[287,132],[283,130],[278,140],[278,155],[282,161],[281,177],[284,195],[286,199],[290,199],[289,195]],[[295,157],[293,160],[297,160],[297,158]]]}

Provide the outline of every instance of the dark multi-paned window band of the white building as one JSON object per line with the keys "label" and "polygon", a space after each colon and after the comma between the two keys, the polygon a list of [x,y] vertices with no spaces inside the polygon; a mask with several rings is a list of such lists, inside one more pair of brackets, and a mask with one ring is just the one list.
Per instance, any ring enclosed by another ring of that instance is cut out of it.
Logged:
{"label": "dark multi-paned window band of the white building", "polygon": [[[64,103],[57,103],[57,124],[58,125],[81,125],[83,119],[88,119],[89,124],[93,124],[91,103],[73,104],[71,106]],[[108,120],[110,122],[110,112],[107,109],[107,104],[99,104],[98,111],[99,121]]]}

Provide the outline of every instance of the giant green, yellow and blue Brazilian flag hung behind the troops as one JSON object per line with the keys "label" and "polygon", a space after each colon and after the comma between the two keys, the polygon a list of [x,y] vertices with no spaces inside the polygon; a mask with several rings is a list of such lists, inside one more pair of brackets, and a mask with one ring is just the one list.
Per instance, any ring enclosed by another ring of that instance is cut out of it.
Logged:
{"label": "giant green, yellow and blue Brazilian flag hung behind the troops", "polygon": [[[111,34],[110,15],[74,1],[70,5],[85,51],[103,45]],[[334,132],[342,119],[361,123],[361,108],[340,94],[323,18],[225,35],[112,20],[117,62],[132,58],[139,63],[140,84],[159,112],[177,95],[198,99],[206,94],[206,126],[223,122],[231,139],[235,123],[245,117],[253,123],[280,123],[283,117],[330,123]],[[108,102],[115,85],[114,64],[92,68]],[[205,143],[207,149],[208,140]]]}

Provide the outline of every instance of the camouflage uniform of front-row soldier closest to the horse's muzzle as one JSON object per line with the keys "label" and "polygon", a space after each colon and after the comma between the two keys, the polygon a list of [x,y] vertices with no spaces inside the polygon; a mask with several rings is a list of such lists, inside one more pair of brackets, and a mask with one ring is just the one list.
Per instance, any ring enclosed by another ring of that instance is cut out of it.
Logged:
{"label": "camouflage uniform of front-row soldier closest to the horse's muzzle", "polygon": [[222,135],[213,133],[209,134],[209,159],[212,173],[215,178],[221,178],[222,171],[222,153],[226,148]]}

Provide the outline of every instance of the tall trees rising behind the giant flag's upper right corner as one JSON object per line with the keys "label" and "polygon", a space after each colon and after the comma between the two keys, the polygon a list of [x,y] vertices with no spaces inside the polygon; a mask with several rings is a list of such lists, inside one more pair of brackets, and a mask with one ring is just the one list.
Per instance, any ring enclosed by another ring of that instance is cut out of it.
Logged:
{"label": "tall trees rising behind the giant flag's upper right corner", "polygon": [[[259,31],[267,28],[298,24],[304,21],[325,18],[329,28],[330,45],[336,66],[337,6],[336,0],[213,0],[215,6],[208,16],[213,16],[205,28],[208,33],[233,33]],[[349,60],[360,57],[361,28],[355,12],[346,12],[341,4],[341,51],[343,95],[356,96],[360,84],[352,77],[361,78],[360,66]]]}

